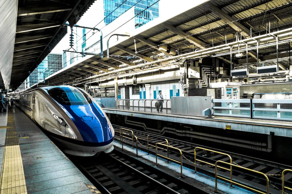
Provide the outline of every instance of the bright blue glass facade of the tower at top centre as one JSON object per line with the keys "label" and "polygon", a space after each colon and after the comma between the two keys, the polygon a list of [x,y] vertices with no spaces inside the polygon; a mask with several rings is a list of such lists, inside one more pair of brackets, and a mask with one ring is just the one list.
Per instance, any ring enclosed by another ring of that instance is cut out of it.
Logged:
{"label": "bright blue glass facade of the tower at top centre", "polygon": [[111,23],[132,7],[135,8],[136,28],[159,17],[157,0],[103,0],[105,24]]}

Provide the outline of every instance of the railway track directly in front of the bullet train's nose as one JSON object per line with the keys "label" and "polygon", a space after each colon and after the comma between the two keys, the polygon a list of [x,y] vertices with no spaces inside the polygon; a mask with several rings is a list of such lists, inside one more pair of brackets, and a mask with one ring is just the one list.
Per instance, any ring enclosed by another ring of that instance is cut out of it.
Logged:
{"label": "railway track directly in front of the bullet train's nose", "polygon": [[205,193],[118,150],[74,163],[101,193]]}

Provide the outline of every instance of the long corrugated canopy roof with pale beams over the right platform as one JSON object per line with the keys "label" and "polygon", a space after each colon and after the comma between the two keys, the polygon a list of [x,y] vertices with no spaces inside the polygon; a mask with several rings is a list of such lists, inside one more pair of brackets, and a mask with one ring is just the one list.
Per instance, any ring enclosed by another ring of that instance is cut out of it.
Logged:
{"label": "long corrugated canopy roof with pale beams over the right platform", "polygon": [[[109,54],[123,57],[101,59],[98,55],[87,55],[84,61],[48,77],[46,84],[78,85],[89,80],[133,74],[162,68],[167,64],[180,64],[181,59],[216,56],[230,64],[230,54],[227,52],[230,52],[231,46],[232,53],[236,53],[238,45],[243,55],[232,63],[235,69],[245,68],[246,43],[249,44],[248,68],[250,72],[254,72],[257,61],[256,42],[260,41],[262,46],[258,51],[259,61],[266,61],[265,65],[275,64],[277,53],[273,37],[282,33],[288,35],[279,36],[279,67],[286,70],[289,66],[287,51],[292,46],[292,37],[289,34],[289,28],[292,27],[291,5],[291,0],[208,1],[159,24],[154,20],[154,25],[149,23],[149,29],[109,49]],[[281,30],[284,31],[277,33]],[[138,51],[137,58],[129,60],[127,56],[133,57],[135,54],[134,39]],[[262,41],[264,39],[265,41]],[[224,52],[225,54],[220,55]],[[106,52],[104,55],[106,56]],[[92,79],[88,78],[90,76]]]}

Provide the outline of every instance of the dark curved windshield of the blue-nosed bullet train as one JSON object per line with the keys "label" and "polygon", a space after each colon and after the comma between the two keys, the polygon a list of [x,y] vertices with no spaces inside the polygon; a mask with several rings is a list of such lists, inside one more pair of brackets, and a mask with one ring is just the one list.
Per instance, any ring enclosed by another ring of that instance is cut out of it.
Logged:
{"label": "dark curved windshield of the blue-nosed bullet train", "polygon": [[54,100],[63,105],[84,105],[91,103],[90,98],[77,89],[65,91],[61,88],[53,88],[48,93]]}

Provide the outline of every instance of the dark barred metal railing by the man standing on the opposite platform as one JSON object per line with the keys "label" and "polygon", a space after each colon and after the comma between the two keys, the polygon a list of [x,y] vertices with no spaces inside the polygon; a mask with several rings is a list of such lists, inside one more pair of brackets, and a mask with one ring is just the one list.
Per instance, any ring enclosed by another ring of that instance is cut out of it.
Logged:
{"label": "dark barred metal railing by the man standing on the opposite platform", "polygon": [[171,113],[171,100],[117,99],[117,109]]}

